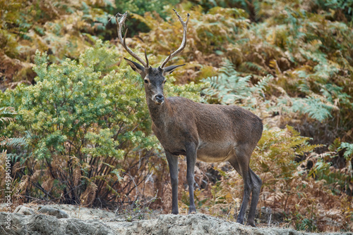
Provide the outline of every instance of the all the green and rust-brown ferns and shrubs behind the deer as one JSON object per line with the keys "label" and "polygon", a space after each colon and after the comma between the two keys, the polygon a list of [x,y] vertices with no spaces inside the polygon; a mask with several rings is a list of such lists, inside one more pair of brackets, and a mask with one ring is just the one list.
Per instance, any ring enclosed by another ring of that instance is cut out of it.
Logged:
{"label": "all the green and rust-brown ferns and shrubs behind the deer", "polygon": [[[172,8],[191,21],[167,96],[263,119],[258,223],[352,231],[352,0],[0,0],[0,177],[10,156],[15,204],[169,212],[167,161],[113,16],[128,11],[128,45],[158,66],[181,42]],[[234,220],[242,180],[228,163],[198,162],[196,183],[198,211]]]}

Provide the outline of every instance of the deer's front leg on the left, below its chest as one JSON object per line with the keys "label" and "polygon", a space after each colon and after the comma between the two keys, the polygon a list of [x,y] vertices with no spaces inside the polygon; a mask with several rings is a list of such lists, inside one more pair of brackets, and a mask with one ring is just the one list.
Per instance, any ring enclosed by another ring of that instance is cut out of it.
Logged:
{"label": "deer's front leg on the left, below its chest", "polygon": [[172,183],[172,214],[178,215],[178,156],[165,151],[167,157],[170,181]]}

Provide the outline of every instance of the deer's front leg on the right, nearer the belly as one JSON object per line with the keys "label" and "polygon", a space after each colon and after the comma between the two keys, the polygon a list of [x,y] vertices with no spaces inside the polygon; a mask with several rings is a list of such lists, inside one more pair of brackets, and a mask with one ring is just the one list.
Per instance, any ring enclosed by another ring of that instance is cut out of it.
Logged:
{"label": "deer's front leg on the right, nearer the belly", "polygon": [[195,144],[189,144],[186,146],[186,179],[189,185],[189,214],[196,213],[195,201],[193,199],[193,184],[195,182],[194,171],[196,164],[197,150]]}

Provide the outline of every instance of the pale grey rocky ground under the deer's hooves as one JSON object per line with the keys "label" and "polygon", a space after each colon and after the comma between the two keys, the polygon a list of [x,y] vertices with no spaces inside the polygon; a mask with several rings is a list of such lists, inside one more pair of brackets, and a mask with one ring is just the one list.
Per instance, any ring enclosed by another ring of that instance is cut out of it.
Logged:
{"label": "pale grey rocky ground under the deer's hooves", "polygon": [[74,205],[20,205],[10,215],[8,219],[6,212],[0,212],[0,234],[310,234],[276,227],[253,228],[203,214],[150,214],[136,218]]}

